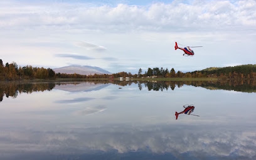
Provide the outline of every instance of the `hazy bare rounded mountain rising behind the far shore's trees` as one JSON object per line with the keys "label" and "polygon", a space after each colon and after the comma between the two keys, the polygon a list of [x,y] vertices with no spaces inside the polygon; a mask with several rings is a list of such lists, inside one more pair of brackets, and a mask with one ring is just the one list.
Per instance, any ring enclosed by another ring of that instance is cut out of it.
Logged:
{"label": "hazy bare rounded mountain rising behind the far shore's trees", "polygon": [[96,74],[111,74],[107,70],[104,70],[99,67],[92,67],[88,65],[70,65],[67,67],[61,67],[61,68],[53,68],[55,73],[67,73],[67,74],[73,74],[77,73],[79,75],[94,75]]}

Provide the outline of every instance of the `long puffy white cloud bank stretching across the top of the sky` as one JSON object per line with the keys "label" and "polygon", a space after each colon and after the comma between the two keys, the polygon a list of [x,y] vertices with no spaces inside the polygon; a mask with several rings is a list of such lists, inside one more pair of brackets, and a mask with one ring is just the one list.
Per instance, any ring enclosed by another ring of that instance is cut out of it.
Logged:
{"label": "long puffy white cloud bank stretching across the top of the sky", "polygon": [[[153,3],[149,6],[118,4],[92,6],[87,3],[5,4],[1,27],[75,26],[110,31],[149,29],[172,31],[178,28],[227,29],[256,24],[255,1],[203,1],[191,4]],[[58,7],[57,7],[58,6]],[[242,21],[241,21],[242,20]]]}

